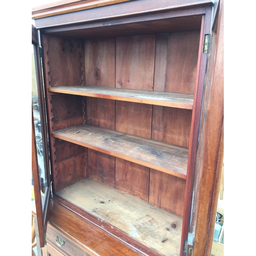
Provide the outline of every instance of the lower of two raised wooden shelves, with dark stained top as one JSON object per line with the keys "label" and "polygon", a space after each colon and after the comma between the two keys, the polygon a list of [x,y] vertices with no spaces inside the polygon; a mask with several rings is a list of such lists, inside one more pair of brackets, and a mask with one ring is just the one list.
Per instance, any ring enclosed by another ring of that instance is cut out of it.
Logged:
{"label": "lower of two raised wooden shelves, with dark stained top", "polygon": [[188,149],[185,147],[92,125],[72,126],[56,131],[52,135],[61,140],[186,179]]}

